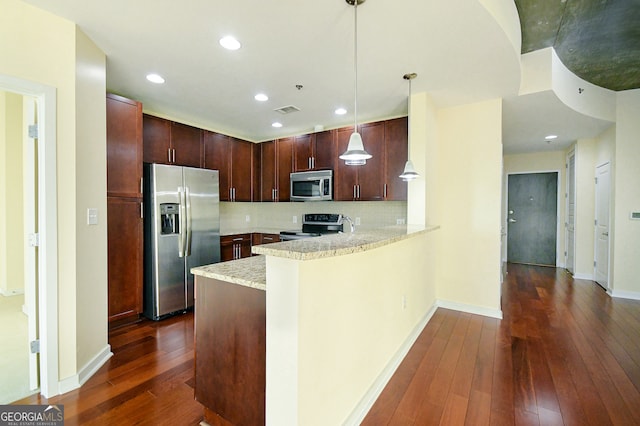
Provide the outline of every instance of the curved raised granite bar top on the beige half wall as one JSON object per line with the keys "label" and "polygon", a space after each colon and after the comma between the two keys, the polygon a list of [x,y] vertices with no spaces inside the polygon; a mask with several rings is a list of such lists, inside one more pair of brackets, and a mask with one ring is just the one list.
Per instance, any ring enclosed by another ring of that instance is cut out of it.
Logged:
{"label": "curved raised granite bar top on the beige half wall", "polygon": [[392,244],[438,229],[438,226],[390,226],[372,230],[356,230],[354,233],[323,235],[254,246],[253,253],[296,260],[322,259],[358,253]]}

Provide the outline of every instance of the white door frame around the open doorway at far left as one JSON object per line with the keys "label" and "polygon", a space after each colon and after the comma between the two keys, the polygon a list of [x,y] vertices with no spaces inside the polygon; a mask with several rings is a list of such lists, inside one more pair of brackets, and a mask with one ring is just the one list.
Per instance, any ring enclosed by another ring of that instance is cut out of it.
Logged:
{"label": "white door frame around the open doorway at far left", "polygon": [[40,393],[59,393],[56,89],[0,74],[0,89],[31,96],[38,109],[38,328]]}

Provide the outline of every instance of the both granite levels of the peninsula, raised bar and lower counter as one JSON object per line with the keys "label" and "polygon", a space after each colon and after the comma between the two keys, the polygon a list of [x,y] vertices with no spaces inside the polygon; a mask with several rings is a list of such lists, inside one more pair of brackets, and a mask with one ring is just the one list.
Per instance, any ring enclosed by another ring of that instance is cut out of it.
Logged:
{"label": "both granite levels of the peninsula, raised bar and lower counter", "polygon": [[[323,235],[315,238],[283,241],[254,246],[256,254],[296,260],[322,259],[363,252],[392,244],[438,229],[438,226],[391,226],[375,230],[356,230],[354,233]],[[226,281],[258,290],[267,289],[265,256],[252,256],[229,262],[192,268],[194,275]]]}

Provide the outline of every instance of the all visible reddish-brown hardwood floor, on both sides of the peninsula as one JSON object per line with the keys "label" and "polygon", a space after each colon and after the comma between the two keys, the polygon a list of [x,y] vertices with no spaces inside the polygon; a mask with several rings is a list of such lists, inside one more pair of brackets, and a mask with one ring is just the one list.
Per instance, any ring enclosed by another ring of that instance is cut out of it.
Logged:
{"label": "all visible reddish-brown hardwood floor, on both sides of the peninsula", "polygon": [[[363,425],[640,425],[640,302],[556,268],[509,265],[503,320],[438,309]],[[114,357],[65,424],[197,425],[193,315],[110,333]]]}

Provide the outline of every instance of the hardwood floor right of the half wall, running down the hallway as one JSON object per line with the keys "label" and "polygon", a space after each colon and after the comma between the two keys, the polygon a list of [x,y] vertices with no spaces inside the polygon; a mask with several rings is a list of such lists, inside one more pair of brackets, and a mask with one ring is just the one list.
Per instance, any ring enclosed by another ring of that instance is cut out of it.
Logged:
{"label": "hardwood floor right of the half wall, running down the hallway", "polygon": [[438,309],[362,424],[640,425],[640,302],[510,264],[502,309]]}

